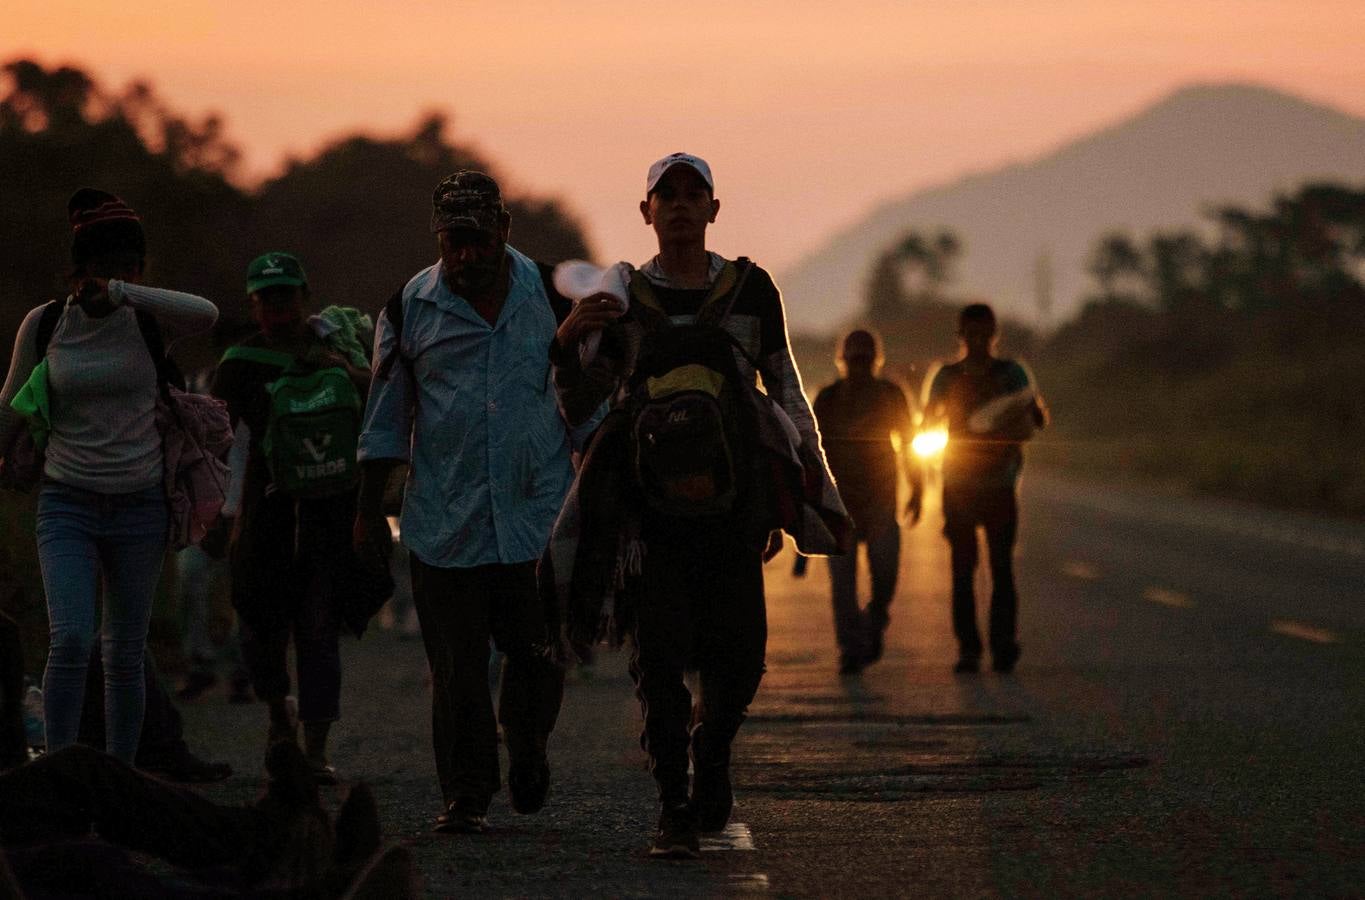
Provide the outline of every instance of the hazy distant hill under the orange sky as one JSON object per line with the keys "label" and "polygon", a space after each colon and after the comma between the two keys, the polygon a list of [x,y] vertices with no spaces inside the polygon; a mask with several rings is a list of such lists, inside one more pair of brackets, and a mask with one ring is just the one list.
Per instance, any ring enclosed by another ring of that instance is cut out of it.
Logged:
{"label": "hazy distant hill under the orange sky", "polygon": [[779,277],[794,331],[863,306],[871,259],[906,228],[965,240],[956,294],[1036,321],[1035,266],[1050,254],[1050,321],[1091,290],[1085,259],[1112,228],[1196,225],[1211,206],[1264,206],[1305,180],[1365,182],[1365,119],[1253,85],[1181,89],[1144,112],[1018,165],[885,203]]}

